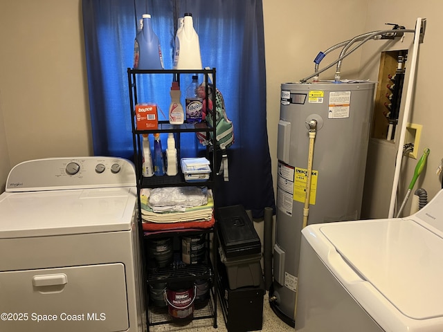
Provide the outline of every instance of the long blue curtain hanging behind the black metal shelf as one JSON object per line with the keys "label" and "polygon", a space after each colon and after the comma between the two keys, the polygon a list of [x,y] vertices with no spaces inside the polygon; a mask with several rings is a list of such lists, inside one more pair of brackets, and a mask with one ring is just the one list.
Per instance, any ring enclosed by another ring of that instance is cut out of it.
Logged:
{"label": "long blue curtain hanging behind the black metal shelf", "polygon": [[[230,181],[217,179],[217,202],[242,204],[254,217],[262,216],[265,207],[275,210],[266,131],[262,0],[83,0],[82,12],[94,154],[133,159],[127,68],[133,65],[138,19],[151,14],[164,66],[172,68],[177,19],[191,12],[202,64],[216,68],[217,88],[234,124],[235,143],[228,148]],[[191,77],[183,78],[182,93]],[[138,82],[138,101],[152,102],[149,98],[155,95],[167,114],[171,81],[160,75]],[[195,137],[186,139],[181,156],[195,156],[201,145]]]}

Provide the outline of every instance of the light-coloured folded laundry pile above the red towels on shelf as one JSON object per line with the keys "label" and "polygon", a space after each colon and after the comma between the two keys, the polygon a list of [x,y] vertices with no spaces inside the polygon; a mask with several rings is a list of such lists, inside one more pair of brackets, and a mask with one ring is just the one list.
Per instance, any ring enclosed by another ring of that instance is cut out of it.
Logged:
{"label": "light-coloured folded laundry pile above the red towels on shelf", "polygon": [[143,223],[179,223],[213,219],[213,195],[207,187],[142,189],[140,197]]}

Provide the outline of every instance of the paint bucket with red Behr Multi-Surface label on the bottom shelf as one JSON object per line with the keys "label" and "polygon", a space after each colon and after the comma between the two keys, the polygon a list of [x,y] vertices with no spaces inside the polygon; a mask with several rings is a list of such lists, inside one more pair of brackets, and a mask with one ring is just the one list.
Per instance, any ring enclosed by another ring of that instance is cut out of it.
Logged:
{"label": "paint bucket with red Behr Multi-Surface label on the bottom shelf", "polygon": [[180,320],[191,318],[197,294],[195,285],[192,282],[170,282],[165,291],[170,316]]}

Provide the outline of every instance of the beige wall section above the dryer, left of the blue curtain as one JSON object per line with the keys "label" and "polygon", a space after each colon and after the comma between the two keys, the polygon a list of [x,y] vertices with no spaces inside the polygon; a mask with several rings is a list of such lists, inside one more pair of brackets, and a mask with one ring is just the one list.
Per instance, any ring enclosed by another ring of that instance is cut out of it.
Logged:
{"label": "beige wall section above the dryer, left of the blue curtain", "polygon": [[0,139],[7,142],[0,151],[8,160],[2,167],[90,155],[80,1],[2,1],[0,21]]}

